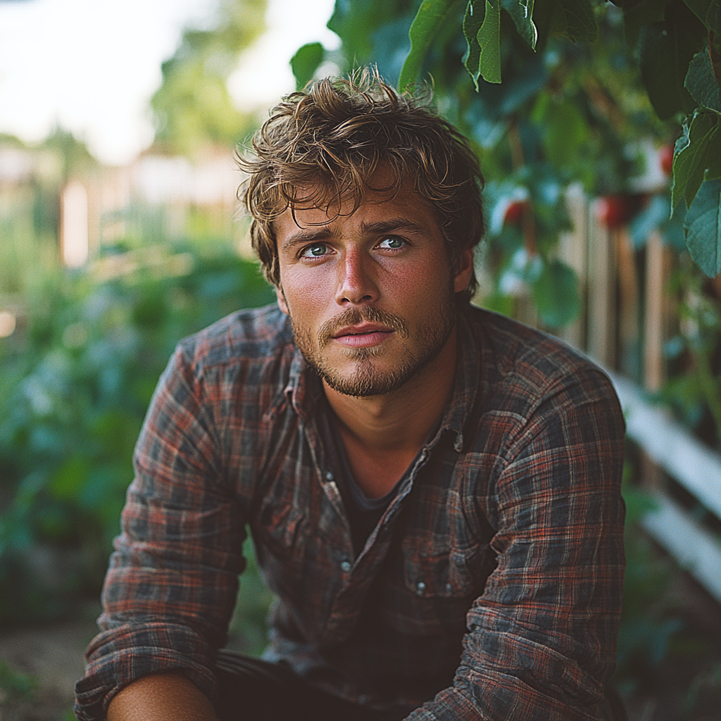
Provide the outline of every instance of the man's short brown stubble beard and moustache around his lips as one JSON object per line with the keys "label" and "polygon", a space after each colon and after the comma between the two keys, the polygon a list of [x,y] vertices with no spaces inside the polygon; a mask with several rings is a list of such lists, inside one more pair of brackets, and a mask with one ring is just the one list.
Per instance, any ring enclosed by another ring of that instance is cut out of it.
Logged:
{"label": "man's short brown stubble beard and moustache around his lips", "polygon": [[426,319],[415,332],[413,337],[416,341],[415,352],[405,344],[395,366],[382,370],[375,362],[376,358],[384,355],[385,349],[382,345],[373,348],[346,348],[342,352],[345,358],[352,361],[353,371],[342,375],[323,350],[330,342],[332,333],[337,329],[362,322],[378,323],[392,328],[403,340],[409,340],[411,337],[408,324],[402,317],[372,306],[354,306],[346,309],[340,315],[325,322],[315,337],[310,329],[297,324],[291,315],[293,336],[298,350],[309,366],[314,368],[333,390],[358,398],[391,393],[410,381],[443,350],[456,324],[454,293],[452,289],[449,290],[438,312],[433,318]]}

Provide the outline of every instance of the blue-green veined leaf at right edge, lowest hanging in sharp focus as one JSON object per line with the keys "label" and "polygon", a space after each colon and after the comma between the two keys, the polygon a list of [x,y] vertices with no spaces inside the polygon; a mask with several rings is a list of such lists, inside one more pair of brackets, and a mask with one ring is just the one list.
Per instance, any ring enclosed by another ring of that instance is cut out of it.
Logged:
{"label": "blue-green veined leaf at right edge, lowest hanging in sharp focus", "polygon": [[696,193],[684,224],[686,246],[701,270],[721,273],[721,180],[707,180]]}

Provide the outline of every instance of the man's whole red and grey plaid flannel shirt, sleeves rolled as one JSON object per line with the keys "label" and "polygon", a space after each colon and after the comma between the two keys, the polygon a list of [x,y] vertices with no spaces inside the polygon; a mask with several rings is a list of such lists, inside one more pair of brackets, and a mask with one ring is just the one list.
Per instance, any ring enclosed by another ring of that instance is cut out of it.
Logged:
{"label": "man's whole red and grey plaid flannel shirt, sleeves rolled", "polygon": [[597,717],[624,572],[619,403],[593,363],[509,319],[471,308],[458,338],[441,425],[358,557],[288,319],[240,311],[180,343],[79,718],[171,669],[213,699],[246,527],[277,597],[267,658],[309,684],[409,721]]}

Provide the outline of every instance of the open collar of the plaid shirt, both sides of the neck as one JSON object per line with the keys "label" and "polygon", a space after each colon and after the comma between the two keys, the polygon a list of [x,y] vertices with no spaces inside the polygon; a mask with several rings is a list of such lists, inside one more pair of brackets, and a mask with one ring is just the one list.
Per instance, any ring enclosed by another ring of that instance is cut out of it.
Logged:
{"label": "open collar of the plaid shirt, both sides of the neck", "polygon": [[[458,352],[453,393],[443,412],[438,432],[435,433],[429,446],[435,446],[441,433],[449,430],[456,435],[454,448],[456,451],[461,451],[464,444],[464,425],[481,390],[479,340],[473,332],[467,314],[463,312],[459,313],[456,323],[456,342]],[[309,368],[296,347],[284,395],[293,410],[306,422],[318,407],[319,394],[323,392],[322,385],[314,382],[316,380],[314,376],[314,371]]]}

